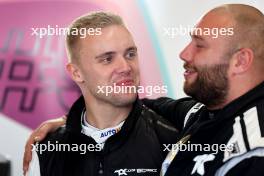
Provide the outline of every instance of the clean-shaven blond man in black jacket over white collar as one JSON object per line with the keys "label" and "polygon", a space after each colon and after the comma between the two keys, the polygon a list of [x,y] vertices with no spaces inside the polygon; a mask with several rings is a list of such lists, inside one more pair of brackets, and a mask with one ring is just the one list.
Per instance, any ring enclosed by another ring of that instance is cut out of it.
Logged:
{"label": "clean-shaven blond man in black jacket over white collar", "polygon": [[[73,32],[83,29],[98,33]],[[163,145],[176,140],[177,130],[129,89],[139,86],[140,74],[137,47],[122,19],[94,12],[77,18],[69,31],[67,71],[82,96],[66,126],[36,144],[28,175],[159,175]],[[104,86],[124,92],[99,91]]]}

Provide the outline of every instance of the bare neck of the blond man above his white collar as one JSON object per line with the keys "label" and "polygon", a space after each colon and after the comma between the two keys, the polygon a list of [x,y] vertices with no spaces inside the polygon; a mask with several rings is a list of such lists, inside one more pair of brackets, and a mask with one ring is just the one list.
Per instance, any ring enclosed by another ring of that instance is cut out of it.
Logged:
{"label": "bare neck of the blond man above his white collar", "polygon": [[86,120],[98,128],[105,129],[113,127],[124,121],[132,110],[132,104],[129,106],[114,106],[110,103],[98,99],[85,98]]}

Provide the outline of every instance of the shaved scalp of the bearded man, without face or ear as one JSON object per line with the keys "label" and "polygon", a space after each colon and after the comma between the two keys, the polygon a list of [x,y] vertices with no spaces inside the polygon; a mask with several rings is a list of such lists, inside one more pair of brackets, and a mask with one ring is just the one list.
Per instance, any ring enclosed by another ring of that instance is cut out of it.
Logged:
{"label": "shaved scalp of the bearded man, without face or ear", "polygon": [[[226,4],[214,8],[206,15],[223,15],[230,19],[234,36],[230,40],[233,49],[250,48],[254,52],[255,65],[264,68],[264,15],[255,7],[245,4]],[[206,16],[205,15],[205,16]]]}

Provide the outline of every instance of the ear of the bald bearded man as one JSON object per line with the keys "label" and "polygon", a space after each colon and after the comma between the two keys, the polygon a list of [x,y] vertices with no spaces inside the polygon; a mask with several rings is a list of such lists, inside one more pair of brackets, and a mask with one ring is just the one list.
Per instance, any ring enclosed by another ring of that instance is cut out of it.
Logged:
{"label": "ear of the bald bearded man", "polygon": [[242,48],[235,53],[231,61],[232,73],[242,74],[248,71],[253,63],[254,52],[250,48]]}

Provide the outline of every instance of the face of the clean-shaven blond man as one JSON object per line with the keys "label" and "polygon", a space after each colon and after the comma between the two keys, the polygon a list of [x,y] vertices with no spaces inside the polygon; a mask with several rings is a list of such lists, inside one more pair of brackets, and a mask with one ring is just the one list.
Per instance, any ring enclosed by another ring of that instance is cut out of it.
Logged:
{"label": "face of the clean-shaven blond man", "polygon": [[113,105],[131,104],[137,97],[132,93],[98,93],[98,86],[139,85],[137,47],[129,31],[122,25],[102,29],[101,35],[80,39],[79,70],[86,93]]}

